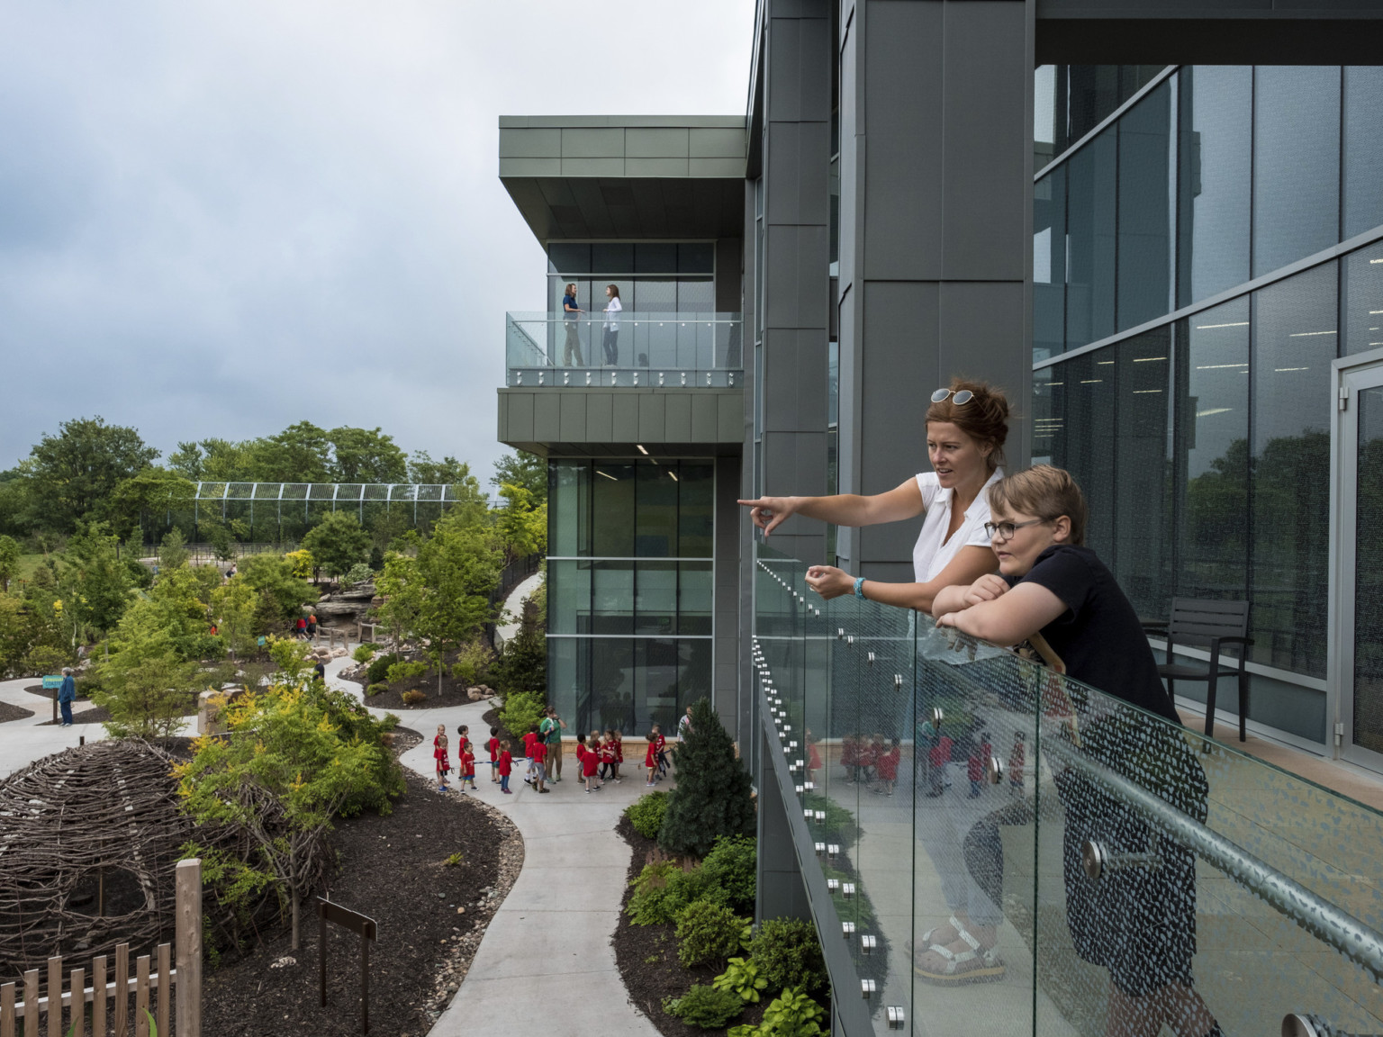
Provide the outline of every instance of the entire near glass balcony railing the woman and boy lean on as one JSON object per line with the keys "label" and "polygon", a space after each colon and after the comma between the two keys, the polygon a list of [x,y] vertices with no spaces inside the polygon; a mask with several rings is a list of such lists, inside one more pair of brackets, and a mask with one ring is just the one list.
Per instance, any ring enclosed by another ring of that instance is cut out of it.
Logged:
{"label": "entire near glass balcony railing the woman and boy lean on", "polygon": [[757,773],[844,1033],[1383,1033],[1383,814],[804,570],[758,549]]}

